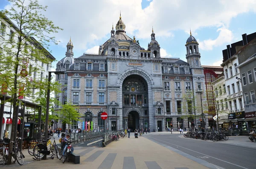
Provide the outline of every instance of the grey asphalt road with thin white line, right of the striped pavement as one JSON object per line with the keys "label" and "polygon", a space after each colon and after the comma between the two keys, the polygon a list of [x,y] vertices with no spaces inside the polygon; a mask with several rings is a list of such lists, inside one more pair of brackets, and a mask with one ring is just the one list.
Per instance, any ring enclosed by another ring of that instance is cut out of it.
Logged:
{"label": "grey asphalt road with thin white line, right of the striped pavement", "polygon": [[256,169],[256,149],[181,137],[181,135],[147,135],[165,144],[224,169]]}

